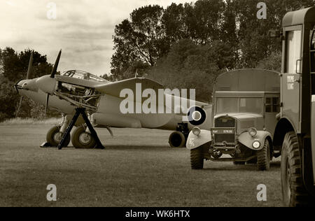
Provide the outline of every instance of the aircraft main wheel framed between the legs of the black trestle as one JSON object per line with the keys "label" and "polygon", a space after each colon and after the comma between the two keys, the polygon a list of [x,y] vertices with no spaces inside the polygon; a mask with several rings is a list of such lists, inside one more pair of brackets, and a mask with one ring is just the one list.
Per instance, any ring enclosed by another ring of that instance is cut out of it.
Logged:
{"label": "aircraft main wheel framed between the legs of the black trestle", "polygon": [[71,143],[78,149],[92,149],[96,145],[95,139],[91,134],[85,132],[84,127],[77,127],[71,136]]}

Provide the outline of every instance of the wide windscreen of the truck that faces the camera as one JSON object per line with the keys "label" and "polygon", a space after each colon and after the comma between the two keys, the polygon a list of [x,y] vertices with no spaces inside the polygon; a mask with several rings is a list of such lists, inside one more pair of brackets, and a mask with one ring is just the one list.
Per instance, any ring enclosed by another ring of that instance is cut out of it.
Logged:
{"label": "wide windscreen of the truck that faces the camera", "polygon": [[262,98],[218,97],[216,113],[262,113]]}

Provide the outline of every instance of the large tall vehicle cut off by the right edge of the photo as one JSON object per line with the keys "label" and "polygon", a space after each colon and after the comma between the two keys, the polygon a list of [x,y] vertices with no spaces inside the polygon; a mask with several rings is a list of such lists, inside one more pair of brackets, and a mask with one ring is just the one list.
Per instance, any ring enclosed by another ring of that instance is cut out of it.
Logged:
{"label": "large tall vehicle cut off by the right edge of the photo", "polygon": [[310,206],[315,201],[315,7],[287,13],[281,38],[281,103],[273,145],[281,148],[284,205]]}

